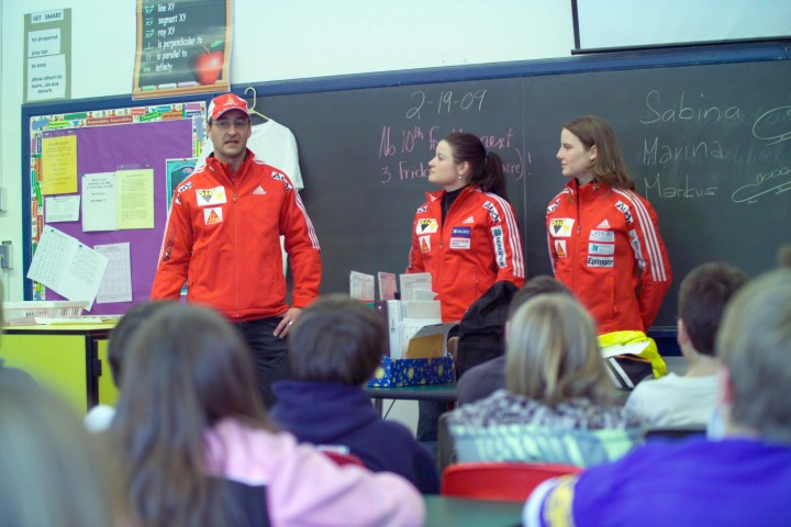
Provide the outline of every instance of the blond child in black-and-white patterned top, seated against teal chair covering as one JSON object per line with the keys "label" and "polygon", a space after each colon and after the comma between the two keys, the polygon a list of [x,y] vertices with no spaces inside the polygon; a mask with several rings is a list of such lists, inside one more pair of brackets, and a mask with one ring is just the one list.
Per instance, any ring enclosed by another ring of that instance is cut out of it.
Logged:
{"label": "blond child in black-and-white patterned top, seated against teal chair covering", "polygon": [[615,404],[593,321],[575,299],[538,295],[512,317],[506,390],[450,413],[458,461],[581,467],[623,456],[642,422]]}

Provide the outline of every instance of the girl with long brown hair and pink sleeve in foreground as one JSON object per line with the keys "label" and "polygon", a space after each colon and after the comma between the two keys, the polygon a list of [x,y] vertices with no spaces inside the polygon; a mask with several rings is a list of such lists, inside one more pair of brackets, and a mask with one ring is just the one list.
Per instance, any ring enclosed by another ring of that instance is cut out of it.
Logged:
{"label": "girl with long brown hair and pink sleeve in foreground", "polygon": [[132,337],[109,434],[129,525],[417,526],[403,478],[275,431],[250,350],[216,312],[159,310]]}

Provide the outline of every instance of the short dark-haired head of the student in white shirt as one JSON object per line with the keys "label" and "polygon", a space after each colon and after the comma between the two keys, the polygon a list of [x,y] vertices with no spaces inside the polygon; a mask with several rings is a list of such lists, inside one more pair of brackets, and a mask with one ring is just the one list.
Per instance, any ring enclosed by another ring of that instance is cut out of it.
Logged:
{"label": "short dark-haired head of the student in white shirt", "polygon": [[695,351],[714,355],[714,337],[731,298],[747,274],[728,264],[703,264],[684,277],[679,289],[679,318]]}

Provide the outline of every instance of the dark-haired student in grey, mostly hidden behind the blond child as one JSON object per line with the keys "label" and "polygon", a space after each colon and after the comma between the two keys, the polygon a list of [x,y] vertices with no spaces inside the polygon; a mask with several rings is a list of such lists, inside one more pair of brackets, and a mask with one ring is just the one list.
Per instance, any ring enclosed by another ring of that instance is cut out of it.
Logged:
{"label": "dark-haired student in grey, mostly hidden behind the blond child", "polygon": [[[538,294],[561,293],[571,295],[566,285],[552,277],[534,277],[519,290],[511,300],[505,322],[508,333],[509,322],[517,309]],[[475,366],[467,370],[456,385],[456,403],[460,406],[486,399],[492,393],[505,388],[505,354]]]}

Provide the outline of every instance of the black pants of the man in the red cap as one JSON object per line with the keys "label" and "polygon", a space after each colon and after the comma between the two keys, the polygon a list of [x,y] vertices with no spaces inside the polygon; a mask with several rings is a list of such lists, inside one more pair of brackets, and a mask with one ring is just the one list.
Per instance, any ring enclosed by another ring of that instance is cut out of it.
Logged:
{"label": "black pants of the man in the red cap", "polygon": [[272,316],[258,321],[236,323],[253,351],[258,394],[267,410],[275,404],[275,393],[271,390],[271,384],[291,378],[288,338],[278,338],[274,335],[275,328],[281,319],[280,316]]}

